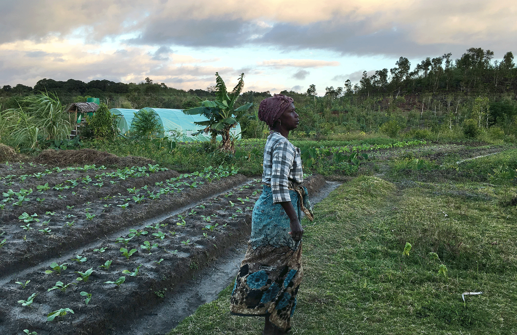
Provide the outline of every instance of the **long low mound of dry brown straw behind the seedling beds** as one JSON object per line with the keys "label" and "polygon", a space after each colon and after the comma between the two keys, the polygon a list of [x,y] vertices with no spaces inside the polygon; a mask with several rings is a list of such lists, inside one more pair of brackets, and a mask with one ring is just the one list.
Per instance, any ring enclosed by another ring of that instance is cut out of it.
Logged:
{"label": "long low mound of dry brown straw behind the seedling beds", "polygon": [[118,167],[155,164],[155,161],[138,156],[118,157],[107,151],[97,151],[94,149],[79,150],[44,150],[34,162],[48,164],[51,166],[74,166],[84,164],[106,165]]}

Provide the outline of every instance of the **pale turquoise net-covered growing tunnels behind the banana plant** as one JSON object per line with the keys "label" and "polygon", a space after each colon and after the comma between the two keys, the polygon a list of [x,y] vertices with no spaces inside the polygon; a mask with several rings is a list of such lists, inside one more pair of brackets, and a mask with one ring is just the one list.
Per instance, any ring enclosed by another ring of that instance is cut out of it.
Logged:
{"label": "pale turquoise net-covered growing tunnels behind the banana plant", "polygon": [[[181,133],[178,141],[181,142],[193,142],[193,141],[210,141],[210,133],[205,134],[201,133],[199,135],[192,136],[192,133],[197,132],[200,129],[203,129],[203,126],[194,125],[194,122],[206,121],[202,115],[186,115],[183,113],[183,110],[179,109],[165,109],[165,108],[143,108],[147,111],[154,111],[158,114],[158,121],[160,125],[163,127],[164,136],[173,136],[175,135],[173,131],[177,131]],[[131,121],[133,119],[133,113],[138,112],[138,110],[132,109],[123,109],[123,108],[113,108],[110,110],[112,114],[121,115],[125,119],[129,128],[131,128]],[[127,128],[126,128],[127,129]],[[122,130],[120,128],[120,130]],[[230,132],[235,136],[236,139],[240,139],[240,125],[237,124],[237,127],[232,128]],[[126,132],[123,132],[126,133]],[[221,135],[217,135],[217,141],[221,141]]]}

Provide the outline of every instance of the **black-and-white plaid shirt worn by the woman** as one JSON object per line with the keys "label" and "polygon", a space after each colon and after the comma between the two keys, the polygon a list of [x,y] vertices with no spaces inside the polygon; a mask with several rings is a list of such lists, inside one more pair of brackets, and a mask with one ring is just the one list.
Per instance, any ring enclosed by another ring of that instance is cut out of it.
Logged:
{"label": "black-and-white plaid shirt worn by the woman", "polygon": [[278,132],[270,132],[264,148],[262,182],[271,185],[273,204],[291,201],[288,187],[303,181],[300,149]]}

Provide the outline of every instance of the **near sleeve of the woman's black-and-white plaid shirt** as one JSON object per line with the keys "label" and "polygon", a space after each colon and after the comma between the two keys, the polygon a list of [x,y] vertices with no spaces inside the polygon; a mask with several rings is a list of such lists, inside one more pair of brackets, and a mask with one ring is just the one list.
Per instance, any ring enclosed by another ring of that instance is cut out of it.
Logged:
{"label": "near sleeve of the woman's black-and-white plaid shirt", "polygon": [[271,166],[271,193],[273,194],[273,204],[291,201],[288,190],[288,176],[291,166],[293,166],[293,161],[293,150],[286,142],[279,142],[273,147]]}

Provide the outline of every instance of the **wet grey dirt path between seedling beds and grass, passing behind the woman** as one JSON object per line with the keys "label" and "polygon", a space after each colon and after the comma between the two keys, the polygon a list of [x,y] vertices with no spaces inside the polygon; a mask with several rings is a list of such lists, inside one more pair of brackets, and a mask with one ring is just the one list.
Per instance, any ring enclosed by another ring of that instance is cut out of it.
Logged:
{"label": "wet grey dirt path between seedling beds and grass, passing behind the woman", "polygon": [[[327,181],[320,189],[313,190],[311,204],[325,199],[341,182]],[[194,277],[166,296],[156,308],[144,316],[134,319],[132,323],[116,325],[111,335],[160,335],[168,333],[181,320],[189,316],[204,303],[217,298],[226,286],[231,284],[239,269],[240,261],[246,253],[246,242],[237,244],[228,253],[212,262]]]}

